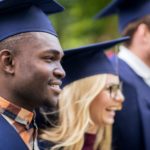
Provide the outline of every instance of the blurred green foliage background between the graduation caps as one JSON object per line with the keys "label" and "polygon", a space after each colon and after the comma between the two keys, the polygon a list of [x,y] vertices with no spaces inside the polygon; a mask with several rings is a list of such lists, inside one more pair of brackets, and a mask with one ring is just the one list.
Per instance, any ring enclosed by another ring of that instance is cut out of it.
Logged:
{"label": "blurred green foliage background between the graduation caps", "polygon": [[65,11],[50,16],[63,49],[119,37],[117,17],[95,20],[111,0],[57,0]]}

